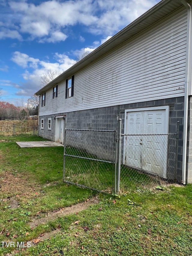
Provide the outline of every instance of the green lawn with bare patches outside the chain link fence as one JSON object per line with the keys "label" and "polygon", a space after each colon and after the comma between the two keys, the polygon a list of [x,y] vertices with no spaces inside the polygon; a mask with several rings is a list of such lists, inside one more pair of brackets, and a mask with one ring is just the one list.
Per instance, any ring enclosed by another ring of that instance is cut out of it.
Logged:
{"label": "green lawn with bare patches outside the chain link fence", "polygon": [[1,255],[192,255],[191,185],[96,194],[62,182],[62,147],[0,140]]}

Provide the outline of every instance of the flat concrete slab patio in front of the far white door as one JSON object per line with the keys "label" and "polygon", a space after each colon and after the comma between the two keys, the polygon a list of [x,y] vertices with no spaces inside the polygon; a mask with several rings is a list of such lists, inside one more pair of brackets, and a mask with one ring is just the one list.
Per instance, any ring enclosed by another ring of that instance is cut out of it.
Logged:
{"label": "flat concrete slab patio in front of the far white door", "polygon": [[54,141],[16,141],[20,148],[34,147],[62,147],[63,145]]}

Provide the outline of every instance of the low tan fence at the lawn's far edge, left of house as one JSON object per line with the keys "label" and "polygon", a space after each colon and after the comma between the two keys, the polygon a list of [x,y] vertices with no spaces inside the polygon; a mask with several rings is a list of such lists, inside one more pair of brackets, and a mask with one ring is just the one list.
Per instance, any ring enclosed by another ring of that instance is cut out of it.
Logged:
{"label": "low tan fence at the lawn's far edge, left of house", "polygon": [[[27,125],[27,124],[25,124]],[[0,135],[19,135],[19,134],[31,134],[38,135],[38,125],[33,126],[19,126],[15,124],[0,125]]]}

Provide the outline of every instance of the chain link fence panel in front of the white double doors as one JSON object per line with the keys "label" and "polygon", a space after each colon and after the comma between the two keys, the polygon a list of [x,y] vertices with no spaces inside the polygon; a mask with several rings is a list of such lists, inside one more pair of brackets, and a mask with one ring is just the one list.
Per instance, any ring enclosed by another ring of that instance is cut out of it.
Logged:
{"label": "chain link fence panel in front of the white double doors", "polygon": [[120,188],[173,183],[177,149],[177,134],[122,134]]}

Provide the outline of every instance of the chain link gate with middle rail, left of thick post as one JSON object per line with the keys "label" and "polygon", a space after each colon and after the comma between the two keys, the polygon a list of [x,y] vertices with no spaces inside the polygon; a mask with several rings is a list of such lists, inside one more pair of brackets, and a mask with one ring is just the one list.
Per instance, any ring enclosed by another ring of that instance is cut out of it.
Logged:
{"label": "chain link gate with middle rail, left of thick post", "polygon": [[114,191],[116,131],[67,129],[64,118],[63,182]]}

